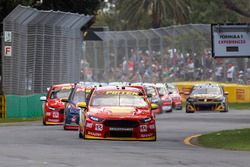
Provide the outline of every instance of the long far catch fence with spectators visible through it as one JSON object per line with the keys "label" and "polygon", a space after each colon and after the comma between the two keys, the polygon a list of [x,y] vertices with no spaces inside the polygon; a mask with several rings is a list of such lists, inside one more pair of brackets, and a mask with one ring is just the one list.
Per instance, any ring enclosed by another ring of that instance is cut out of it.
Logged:
{"label": "long far catch fence with spectators visible through it", "polygon": [[83,42],[84,81],[174,82],[213,80],[250,83],[250,62],[213,59],[209,24],[136,31],[96,32],[102,41]]}

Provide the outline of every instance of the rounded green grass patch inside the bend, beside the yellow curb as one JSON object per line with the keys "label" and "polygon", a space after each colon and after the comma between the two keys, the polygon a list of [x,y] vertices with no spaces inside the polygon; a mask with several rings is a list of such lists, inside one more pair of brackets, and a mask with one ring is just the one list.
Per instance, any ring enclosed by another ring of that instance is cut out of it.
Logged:
{"label": "rounded green grass patch inside the bend, beside the yellow curb", "polygon": [[198,137],[197,142],[204,147],[250,151],[250,129],[209,133]]}

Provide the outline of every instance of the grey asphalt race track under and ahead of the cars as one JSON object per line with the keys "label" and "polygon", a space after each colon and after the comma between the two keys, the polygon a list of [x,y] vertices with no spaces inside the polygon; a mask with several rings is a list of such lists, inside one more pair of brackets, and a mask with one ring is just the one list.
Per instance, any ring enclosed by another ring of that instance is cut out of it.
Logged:
{"label": "grey asphalt race track under and ahead of the cars", "polygon": [[250,152],[185,145],[187,136],[250,128],[250,111],[157,115],[158,140],[81,140],[41,122],[0,124],[0,167],[249,167]]}

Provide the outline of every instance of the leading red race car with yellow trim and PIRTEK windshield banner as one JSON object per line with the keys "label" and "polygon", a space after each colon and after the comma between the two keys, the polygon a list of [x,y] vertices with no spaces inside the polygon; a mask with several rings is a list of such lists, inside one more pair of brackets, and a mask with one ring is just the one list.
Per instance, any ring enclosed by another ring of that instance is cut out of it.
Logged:
{"label": "leading red race car with yellow trim and PIRTEK windshield banner", "polygon": [[108,140],[156,140],[155,116],[141,89],[100,87],[91,95],[89,104],[79,104],[79,137]]}

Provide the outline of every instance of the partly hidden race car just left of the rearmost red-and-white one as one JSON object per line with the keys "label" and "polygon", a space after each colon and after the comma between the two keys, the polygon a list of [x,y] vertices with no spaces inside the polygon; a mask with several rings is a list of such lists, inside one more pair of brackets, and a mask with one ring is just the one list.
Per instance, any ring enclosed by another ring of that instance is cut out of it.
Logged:
{"label": "partly hidden race car just left of the rearmost red-and-white one", "polygon": [[164,84],[155,85],[157,91],[159,92],[161,98],[161,105],[163,112],[172,112],[172,98]]}

